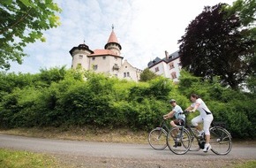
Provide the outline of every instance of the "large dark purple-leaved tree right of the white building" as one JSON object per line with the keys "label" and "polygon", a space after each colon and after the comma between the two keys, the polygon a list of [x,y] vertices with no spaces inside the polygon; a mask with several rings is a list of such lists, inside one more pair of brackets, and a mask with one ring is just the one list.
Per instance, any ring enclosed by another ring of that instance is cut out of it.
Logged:
{"label": "large dark purple-leaved tree right of the white building", "polygon": [[227,4],[206,6],[186,28],[178,42],[182,66],[190,73],[212,79],[219,76],[222,84],[237,89],[252,73],[255,42],[245,38],[249,29],[234,12],[223,10]]}

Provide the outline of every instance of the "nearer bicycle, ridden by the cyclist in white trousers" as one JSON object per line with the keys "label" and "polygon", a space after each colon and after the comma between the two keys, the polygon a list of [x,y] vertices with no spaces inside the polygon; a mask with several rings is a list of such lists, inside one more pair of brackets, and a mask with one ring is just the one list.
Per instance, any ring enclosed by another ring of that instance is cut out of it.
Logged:
{"label": "nearer bicycle, ridden by the cyclist in white trousers", "polygon": [[[169,130],[167,134],[167,145],[169,149],[177,154],[184,155],[189,150],[198,151],[204,149],[205,136],[197,136],[195,128],[187,121],[188,112],[184,112],[186,118],[184,126],[177,126]],[[216,155],[227,155],[232,149],[231,134],[222,126],[210,127],[210,144]],[[197,144],[196,144],[197,143]]]}

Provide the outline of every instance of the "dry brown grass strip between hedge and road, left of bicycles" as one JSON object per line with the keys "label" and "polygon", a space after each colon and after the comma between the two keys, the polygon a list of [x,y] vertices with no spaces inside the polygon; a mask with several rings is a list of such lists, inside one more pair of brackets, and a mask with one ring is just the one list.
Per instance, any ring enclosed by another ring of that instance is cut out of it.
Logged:
{"label": "dry brown grass strip between hedge and road, left of bicycles", "polygon": [[14,128],[0,130],[0,134],[13,134],[29,137],[73,140],[73,141],[106,141],[147,143],[147,132],[132,132],[129,129],[99,129],[89,127],[44,127],[44,128]]}

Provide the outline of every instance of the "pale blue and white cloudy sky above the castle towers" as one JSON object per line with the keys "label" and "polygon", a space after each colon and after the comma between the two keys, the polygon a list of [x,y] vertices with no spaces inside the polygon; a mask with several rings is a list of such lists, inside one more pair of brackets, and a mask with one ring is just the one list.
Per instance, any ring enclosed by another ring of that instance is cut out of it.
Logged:
{"label": "pale blue and white cloudy sky above the castle towers", "polygon": [[185,28],[204,9],[235,0],[55,0],[61,26],[44,32],[46,42],[30,43],[23,64],[11,63],[8,73],[40,73],[40,69],[72,66],[69,51],[86,43],[90,50],[104,49],[114,26],[121,56],[144,70],[155,57],[178,50]]}

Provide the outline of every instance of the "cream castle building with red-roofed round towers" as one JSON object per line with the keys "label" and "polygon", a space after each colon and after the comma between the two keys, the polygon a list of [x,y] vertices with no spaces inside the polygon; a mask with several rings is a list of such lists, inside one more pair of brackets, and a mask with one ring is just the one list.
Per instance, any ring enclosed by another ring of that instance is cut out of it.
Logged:
{"label": "cream castle building with red-roofed round towers", "polygon": [[90,50],[86,44],[79,44],[70,50],[72,55],[72,69],[91,70],[95,73],[106,73],[118,79],[139,81],[141,70],[130,65],[127,60],[123,63],[122,47],[117,42],[112,29],[109,41],[104,50]]}

